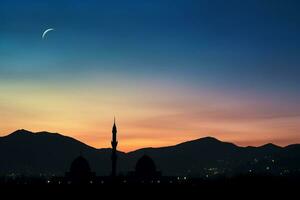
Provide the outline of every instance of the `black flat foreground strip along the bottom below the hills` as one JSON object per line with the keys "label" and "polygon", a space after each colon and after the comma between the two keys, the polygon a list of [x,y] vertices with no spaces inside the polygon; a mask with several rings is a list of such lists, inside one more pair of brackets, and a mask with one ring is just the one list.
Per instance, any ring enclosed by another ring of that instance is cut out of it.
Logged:
{"label": "black flat foreground strip along the bottom below the hills", "polygon": [[190,199],[197,197],[230,197],[244,198],[275,198],[290,199],[300,191],[298,177],[238,177],[219,180],[193,180],[186,183],[107,183],[107,184],[2,184],[1,194],[9,196],[36,197],[81,197],[84,199],[101,197],[181,197]]}

